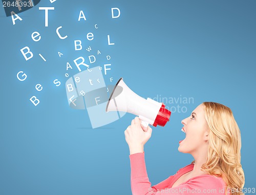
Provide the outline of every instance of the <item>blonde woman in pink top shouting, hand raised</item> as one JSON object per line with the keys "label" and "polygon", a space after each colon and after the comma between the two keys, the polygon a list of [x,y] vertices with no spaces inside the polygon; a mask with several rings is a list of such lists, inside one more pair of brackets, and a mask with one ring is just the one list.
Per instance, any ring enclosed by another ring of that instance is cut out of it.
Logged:
{"label": "blonde woman in pink top shouting, hand raised", "polygon": [[222,104],[204,102],[181,123],[186,137],[178,150],[195,160],[152,187],[144,160],[144,144],[152,129],[141,126],[135,117],[124,131],[130,149],[133,194],[243,194],[241,134],[231,110]]}

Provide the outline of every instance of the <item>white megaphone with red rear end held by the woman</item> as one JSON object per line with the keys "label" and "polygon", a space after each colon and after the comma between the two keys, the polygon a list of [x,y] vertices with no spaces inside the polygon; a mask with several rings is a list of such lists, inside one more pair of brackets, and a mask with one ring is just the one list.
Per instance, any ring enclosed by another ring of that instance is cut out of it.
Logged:
{"label": "white megaphone with red rear end held by the woman", "polygon": [[165,126],[169,121],[170,111],[165,108],[163,103],[159,103],[150,98],[144,99],[133,92],[120,78],[116,83],[109,101],[106,105],[106,112],[121,111],[129,112],[139,116],[142,125],[148,124],[156,127]]}

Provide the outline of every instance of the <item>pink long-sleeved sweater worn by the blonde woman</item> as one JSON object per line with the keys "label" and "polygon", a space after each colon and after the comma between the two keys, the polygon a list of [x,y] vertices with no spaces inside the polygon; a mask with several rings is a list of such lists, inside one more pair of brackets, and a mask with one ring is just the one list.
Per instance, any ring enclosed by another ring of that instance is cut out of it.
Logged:
{"label": "pink long-sleeved sweater worn by the blonde woman", "polygon": [[147,177],[144,152],[132,154],[129,157],[131,162],[131,187],[133,195],[225,194],[225,182],[221,177],[213,175],[196,176],[181,183],[179,186],[172,187],[182,175],[193,170],[194,164],[189,164],[180,168],[175,175],[168,177],[157,185],[151,186],[151,182]]}

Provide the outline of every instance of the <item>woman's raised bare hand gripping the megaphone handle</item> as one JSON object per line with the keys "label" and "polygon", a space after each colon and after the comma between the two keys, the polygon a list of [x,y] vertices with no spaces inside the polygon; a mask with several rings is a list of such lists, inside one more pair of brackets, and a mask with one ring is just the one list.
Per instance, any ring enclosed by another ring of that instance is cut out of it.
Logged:
{"label": "woman's raised bare hand gripping the megaphone handle", "polygon": [[141,125],[141,120],[136,116],[132,123],[124,131],[125,141],[129,145],[130,155],[135,153],[144,152],[144,144],[150,139],[152,129],[150,126],[147,128]]}

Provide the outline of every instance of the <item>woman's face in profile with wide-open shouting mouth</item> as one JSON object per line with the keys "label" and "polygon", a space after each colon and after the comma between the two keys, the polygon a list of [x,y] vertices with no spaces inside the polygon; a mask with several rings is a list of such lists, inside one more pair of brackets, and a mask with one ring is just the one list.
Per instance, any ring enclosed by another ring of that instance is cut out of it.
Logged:
{"label": "woman's face in profile with wide-open shouting mouth", "polygon": [[208,125],[204,116],[204,107],[200,104],[189,117],[181,121],[186,133],[185,139],[179,144],[178,150],[182,153],[193,154],[202,152],[208,140]]}

